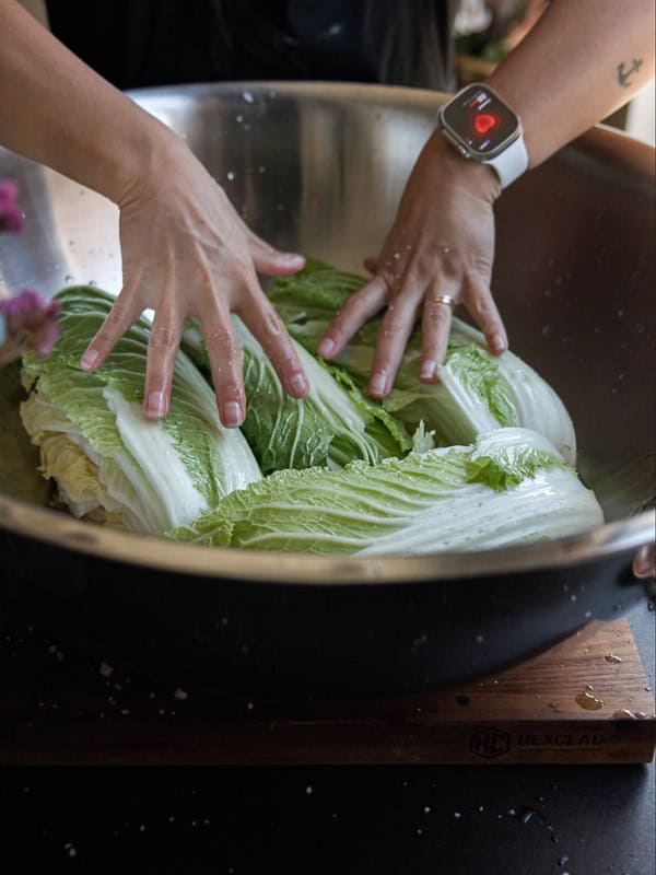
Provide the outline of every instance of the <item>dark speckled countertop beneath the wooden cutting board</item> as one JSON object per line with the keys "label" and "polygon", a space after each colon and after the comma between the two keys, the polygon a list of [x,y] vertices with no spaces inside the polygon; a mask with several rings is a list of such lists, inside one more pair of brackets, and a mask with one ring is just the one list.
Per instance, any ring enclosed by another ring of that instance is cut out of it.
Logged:
{"label": "dark speckled countertop beneath the wooden cutting board", "polygon": [[[653,688],[651,608],[628,616]],[[27,658],[3,637],[14,665]],[[653,875],[654,789],[653,762],[3,767],[0,861],[8,872],[15,859],[23,871]]]}

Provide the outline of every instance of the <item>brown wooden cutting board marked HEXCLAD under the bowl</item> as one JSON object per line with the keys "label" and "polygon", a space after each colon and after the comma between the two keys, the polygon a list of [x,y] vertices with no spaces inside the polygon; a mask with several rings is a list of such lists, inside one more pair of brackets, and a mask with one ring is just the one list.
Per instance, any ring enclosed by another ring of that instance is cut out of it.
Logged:
{"label": "brown wooden cutting board marked HEXCLAD under the bowl", "polygon": [[2,763],[636,763],[656,745],[624,619],[457,689],[300,707],[171,689],[30,634],[0,653]]}

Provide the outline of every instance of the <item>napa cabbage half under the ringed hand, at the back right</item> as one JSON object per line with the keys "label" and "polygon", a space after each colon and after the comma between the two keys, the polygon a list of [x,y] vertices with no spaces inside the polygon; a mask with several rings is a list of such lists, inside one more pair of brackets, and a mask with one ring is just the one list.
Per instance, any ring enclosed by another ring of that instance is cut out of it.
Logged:
{"label": "napa cabbage half under the ringed hand, at the back right", "polygon": [[[363,277],[307,259],[303,270],[277,277],[270,299],[292,337],[316,354],[329,323]],[[332,360],[366,393],[380,318],[367,322]],[[412,332],[395,387],[384,407],[412,430],[423,420],[443,446],[471,443],[477,434],[516,425],[544,434],[572,465],[572,419],[553,388],[508,351],[492,355],[484,337],[455,317],[437,383],[420,383],[421,328]]]}

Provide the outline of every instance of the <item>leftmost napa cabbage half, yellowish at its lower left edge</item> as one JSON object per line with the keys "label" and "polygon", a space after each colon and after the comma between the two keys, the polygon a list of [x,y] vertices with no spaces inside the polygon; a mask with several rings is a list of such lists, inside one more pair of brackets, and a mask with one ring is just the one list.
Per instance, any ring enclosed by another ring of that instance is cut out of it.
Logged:
{"label": "leftmost napa cabbage half, yellowish at its lower left edge", "polygon": [[183,352],[175,362],[167,418],[144,418],[151,327],[145,318],[89,373],[80,369],[80,357],[114,299],[96,288],[75,287],[56,300],[60,337],[46,358],[23,358],[30,395],[21,417],[39,446],[42,472],[56,480],[75,516],[162,534],[261,478],[244,435],[221,425],[212,389]]}

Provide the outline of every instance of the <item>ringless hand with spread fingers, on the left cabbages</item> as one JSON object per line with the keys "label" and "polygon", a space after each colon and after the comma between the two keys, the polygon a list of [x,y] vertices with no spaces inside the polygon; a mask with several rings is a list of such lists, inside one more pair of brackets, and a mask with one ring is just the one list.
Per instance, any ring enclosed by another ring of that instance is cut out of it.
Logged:
{"label": "ringless hand with spread fingers, on the left cabbages", "polygon": [[154,310],[143,411],[161,419],[168,412],[184,323],[196,316],[221,421],[238,427],[246,397],[233,312],[262,345],[284,389],[295,398],[306,395],[309,386],[292,341],[256,272],[294,273],[303,267],[303,257],[273,249],[249,231],[181,141],[166,143],[154,170],[129,186],[118,206],[124,285],[81,366],[97,369],[141,313]]}

